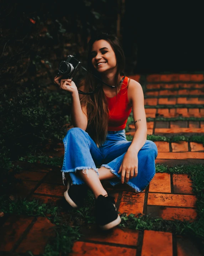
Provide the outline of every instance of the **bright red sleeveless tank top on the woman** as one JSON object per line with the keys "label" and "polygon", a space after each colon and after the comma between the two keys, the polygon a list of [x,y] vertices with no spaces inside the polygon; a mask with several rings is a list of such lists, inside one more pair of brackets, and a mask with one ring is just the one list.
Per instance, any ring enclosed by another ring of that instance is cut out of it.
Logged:
{"label": "bright red sleeveless tank top on the woman", "polygon": [[125,77],[121,90],[116,96],[109,98],[106,96],[109,110],[108,131],[120,131],[125,129],[127,119],[132,111],[132,106],[127,96],[128,77]]}

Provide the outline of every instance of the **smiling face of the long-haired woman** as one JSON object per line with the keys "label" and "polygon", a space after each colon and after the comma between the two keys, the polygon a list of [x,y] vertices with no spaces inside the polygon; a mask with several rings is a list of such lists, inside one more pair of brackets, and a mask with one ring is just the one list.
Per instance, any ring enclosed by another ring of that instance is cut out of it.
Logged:
{"label": "smiling face of the long-haired woman", "polygon": [[106,40],[95,41],[92,45],[91,58],[93,67],[100,73],[116,68],[116,55]]}

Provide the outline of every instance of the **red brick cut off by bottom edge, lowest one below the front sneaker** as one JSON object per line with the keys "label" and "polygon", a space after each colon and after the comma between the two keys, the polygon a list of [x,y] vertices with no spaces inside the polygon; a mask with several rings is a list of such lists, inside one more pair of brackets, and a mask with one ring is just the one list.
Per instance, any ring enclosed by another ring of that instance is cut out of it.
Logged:
{"label": "red brick cut off by bottom edge, lowest one below the front sneaker", "polygon": [[75,242],[72,248],[70,256],[79,256],[79,255],[90,255],[90,256],[104,256],[104,255],[117,255],[117,256],[135,256],[136,249],[110,246],[110,245],[101,245],[96,243],[88,242]]}

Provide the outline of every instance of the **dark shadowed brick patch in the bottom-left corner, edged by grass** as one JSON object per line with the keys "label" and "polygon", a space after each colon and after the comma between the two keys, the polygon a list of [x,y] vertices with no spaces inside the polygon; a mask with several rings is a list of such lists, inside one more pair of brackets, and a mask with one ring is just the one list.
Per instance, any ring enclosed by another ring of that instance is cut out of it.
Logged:
{"label": "dark shadowed brick patch in the bottom-left corner, edged by grass", "polygon": [[34,217],[9,216],[1,228],[0,251],[9,253],[17,244],[17,255],[27,251],[41,255],[45,253],[47,242],[56,236],[53,227],[55,225],[46,217],[37,217],[35,221]]}

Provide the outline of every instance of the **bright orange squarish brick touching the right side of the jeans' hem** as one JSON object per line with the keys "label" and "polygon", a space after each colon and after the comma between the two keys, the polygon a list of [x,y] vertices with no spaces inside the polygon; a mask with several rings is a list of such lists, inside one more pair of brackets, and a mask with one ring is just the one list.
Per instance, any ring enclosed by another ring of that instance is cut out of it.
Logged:
{"label": "bright orange squarish brick touching the right side of the jeans' hem", "polygon": [[170,174],[156,173],[149,183],[149,192],[171,193]]}

